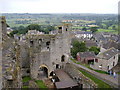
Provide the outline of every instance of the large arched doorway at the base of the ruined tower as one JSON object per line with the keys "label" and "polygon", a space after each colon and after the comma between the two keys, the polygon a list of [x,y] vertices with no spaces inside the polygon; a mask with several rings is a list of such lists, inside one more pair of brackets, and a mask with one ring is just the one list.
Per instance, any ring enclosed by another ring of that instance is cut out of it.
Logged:
{"label": "large arched doorway at the base of the ruined tower", "polygon": [[48,78],[48,67],[46,65],[41,65],[39,67],[38,78],[39,79]]}

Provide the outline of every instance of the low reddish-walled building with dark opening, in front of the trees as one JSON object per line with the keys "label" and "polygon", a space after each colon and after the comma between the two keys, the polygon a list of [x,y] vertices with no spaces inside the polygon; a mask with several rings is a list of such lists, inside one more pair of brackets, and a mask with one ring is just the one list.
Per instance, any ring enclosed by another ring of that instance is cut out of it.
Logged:
{"label": "low reddish-walled building with dark opening, in front of the trees", "polygon": [[78,52],[77,53],[77,60],[82,63],[93,64],[96,62],[96,57],[94,52]]}

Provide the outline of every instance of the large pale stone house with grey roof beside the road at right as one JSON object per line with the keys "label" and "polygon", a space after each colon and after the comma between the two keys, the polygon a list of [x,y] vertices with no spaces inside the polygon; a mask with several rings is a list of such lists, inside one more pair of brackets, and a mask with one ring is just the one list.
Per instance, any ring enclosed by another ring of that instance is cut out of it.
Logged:
{"label": "large pale stone house with grey roof beside the road at right", "polygon": [[118,63],[118,50],[115,48],[110,48],[97,55],[98,62],[94,62],[91,68],[109,71],[115,67]]}

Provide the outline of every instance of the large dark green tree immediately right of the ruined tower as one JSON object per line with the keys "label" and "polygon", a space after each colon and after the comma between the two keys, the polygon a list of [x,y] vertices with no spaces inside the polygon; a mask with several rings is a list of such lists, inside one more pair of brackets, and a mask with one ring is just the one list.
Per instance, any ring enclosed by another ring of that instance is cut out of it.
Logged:
{"label": "large dark green tree immediately right of the ruined tower", "polygon": [[77,40],[73,41],[72,43],[73,48],[71,48],[71,55],[76,58],[78,52],[85,52],[87,51],[87,47],[84,42],[79,42]]}

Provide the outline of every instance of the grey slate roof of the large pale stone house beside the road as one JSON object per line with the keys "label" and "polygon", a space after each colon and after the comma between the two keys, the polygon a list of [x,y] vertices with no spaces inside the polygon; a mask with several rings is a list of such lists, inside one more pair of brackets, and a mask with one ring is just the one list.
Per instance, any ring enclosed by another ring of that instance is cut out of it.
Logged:
{"label": "grey slate roof of the large pale stone house beside the road", "polygon": [[110,48],[107,51],[97,55],[98,58],[109,60],[111,57],[118,54],[118,50],[115,48]]}

